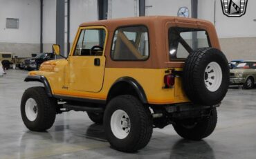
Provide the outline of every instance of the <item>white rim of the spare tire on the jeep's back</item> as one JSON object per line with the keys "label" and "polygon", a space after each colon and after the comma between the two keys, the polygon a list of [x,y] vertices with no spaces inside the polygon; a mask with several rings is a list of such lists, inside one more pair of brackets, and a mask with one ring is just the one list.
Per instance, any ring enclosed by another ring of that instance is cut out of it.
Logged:
{"label": "white rim of the spare tire on the jeep's back", "polygon": [[217,62],[211,62],[205,68],[204,82],[209,91],[215,92],[219,89],[222,82],[221,66]]}

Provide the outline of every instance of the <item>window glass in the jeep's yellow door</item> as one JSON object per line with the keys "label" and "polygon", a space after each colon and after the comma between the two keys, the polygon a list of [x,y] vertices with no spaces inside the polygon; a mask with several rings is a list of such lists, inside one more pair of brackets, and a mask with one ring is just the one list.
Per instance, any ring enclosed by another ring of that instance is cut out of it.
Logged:
{"label": "window glass in the jeep's yellow door", "polygon": [[75,46],[74,56],[101,56],[104,50],[104,29],[83,29]]}

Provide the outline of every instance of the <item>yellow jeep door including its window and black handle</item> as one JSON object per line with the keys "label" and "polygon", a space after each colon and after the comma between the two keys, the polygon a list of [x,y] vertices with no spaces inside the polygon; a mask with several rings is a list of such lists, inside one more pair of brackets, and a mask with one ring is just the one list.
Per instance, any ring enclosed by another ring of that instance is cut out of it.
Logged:
{"label": "yellow jeep door including its window and black handle", "polygon": [[104,78],[104,46],[107,29],[82,27],[78,31],[69,62],[69,83],[73,91],[99,92]]}

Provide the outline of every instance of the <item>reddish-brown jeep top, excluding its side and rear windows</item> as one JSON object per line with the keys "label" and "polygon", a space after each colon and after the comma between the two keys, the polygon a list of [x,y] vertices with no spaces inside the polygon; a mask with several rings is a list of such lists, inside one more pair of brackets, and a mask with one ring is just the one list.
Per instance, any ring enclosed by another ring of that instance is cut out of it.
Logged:
{"label": "reddish-brown jeep top, excluding its side and rear windows", "polygon": [[[149,59],[147,61],[126,62],[113,61],[110,57],[111,41],[116,28],[121,26],[147,26],[149,30]],[[107,59],[106,67],[111,68],[174,68],[182,67],[184,62],[170,62],[169,48],[167,43],[168,28],[178,26],[183,28],[201,28],[208,32],[212,48],[218,48],[219,40],[217,32],[210,23],[201,19],[170,17],[170,16],[149,16],[149,17],[129,17],[122,19],[107,19],[100,21],[86,22],[82,26],[104,26],[108,30],[107,45],[105,48],[105,57]]]}

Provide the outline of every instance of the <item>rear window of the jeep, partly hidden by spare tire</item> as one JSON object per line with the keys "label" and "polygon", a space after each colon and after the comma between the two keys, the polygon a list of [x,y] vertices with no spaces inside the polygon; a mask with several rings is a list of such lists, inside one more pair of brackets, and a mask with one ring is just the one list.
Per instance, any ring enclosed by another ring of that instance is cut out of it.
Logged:
{"label": "rear window of the jeep, partly hidden by spare tire", "polygon": [[171,27],[168,30],[170,60],[185,60],[192,50],[210,47],[206,30]]}

